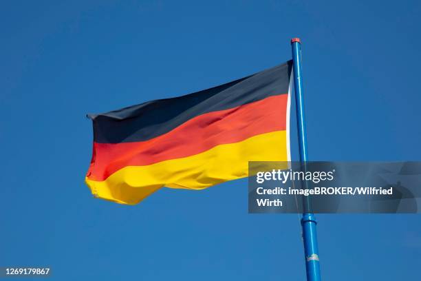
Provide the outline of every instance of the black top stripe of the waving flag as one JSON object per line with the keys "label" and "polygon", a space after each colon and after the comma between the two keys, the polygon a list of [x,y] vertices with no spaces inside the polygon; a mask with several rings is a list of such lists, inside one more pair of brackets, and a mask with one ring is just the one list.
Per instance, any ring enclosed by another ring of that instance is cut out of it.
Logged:
{"label": "black top stripe of the waving flag", "polygon": [[94,141],[147,141],[171,131],[195,116],[252,103],[268,96],[285,94],[288,92],[291,67],[292,61],[288,61],[248,77],[186,96],[149,101],[102,114],[88,114],[94,122]]}

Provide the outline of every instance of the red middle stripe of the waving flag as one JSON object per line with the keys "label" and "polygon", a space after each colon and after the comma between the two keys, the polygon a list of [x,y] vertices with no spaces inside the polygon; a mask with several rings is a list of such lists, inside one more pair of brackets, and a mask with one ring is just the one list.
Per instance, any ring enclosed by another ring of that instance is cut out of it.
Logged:
{"label": "red middle stripe of the waving flag", "polygon": [[105,180],[126,166],[151,165],[286,129],[288,94],[196,116],[172,131],[136,143],[94,143],[87,176]]}

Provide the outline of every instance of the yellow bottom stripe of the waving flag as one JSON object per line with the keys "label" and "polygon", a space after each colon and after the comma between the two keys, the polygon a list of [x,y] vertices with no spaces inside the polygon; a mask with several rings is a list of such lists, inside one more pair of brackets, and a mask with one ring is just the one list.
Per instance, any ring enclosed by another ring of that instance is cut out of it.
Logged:
{"label": "yellow bottom stripe of the waving flag", "polygon": [[86,178],[94,196],[137,204],[161,187],[204,189],[248,176],[248,161],[287,161],[286,132],[259,134],[218,145],[201,154],[147,166],[127,166],[96,181]]}

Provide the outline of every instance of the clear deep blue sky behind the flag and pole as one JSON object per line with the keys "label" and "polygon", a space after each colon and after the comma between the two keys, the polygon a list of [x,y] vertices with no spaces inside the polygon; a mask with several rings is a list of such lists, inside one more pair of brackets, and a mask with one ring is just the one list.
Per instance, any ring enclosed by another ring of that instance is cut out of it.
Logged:
{"label": "clear deep blue sky behind the flag and pole", "polygon": [[[54,280],[304,280],[247,180],[94,199],[88,112],[195,92],[303,41],[311,160],[421,160],[420,1],[1,1],[0,266]],[[319,215],[324,280],[418,280],[420,215]]]}

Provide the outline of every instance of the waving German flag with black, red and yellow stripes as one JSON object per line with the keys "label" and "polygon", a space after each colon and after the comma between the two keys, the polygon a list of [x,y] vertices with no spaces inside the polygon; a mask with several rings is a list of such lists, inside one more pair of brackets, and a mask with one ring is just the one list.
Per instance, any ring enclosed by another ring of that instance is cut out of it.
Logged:
{"label": "waving German flag with black, red and yellow stripes", "polygon": [[286,161],[292,61],[217,87],[102,114],[85,178],[98,198],[134,205],[161,187],[204,189]]}

